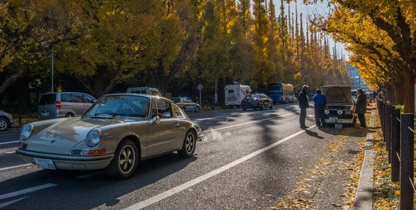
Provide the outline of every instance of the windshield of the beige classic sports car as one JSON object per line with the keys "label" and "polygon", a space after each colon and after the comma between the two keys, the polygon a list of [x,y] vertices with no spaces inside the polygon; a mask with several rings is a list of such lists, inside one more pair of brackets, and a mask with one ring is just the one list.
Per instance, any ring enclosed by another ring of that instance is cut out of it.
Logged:
{"label": "windshield of the beige classic sports car", "polygon": [[86,113],[87,116],[112,115],[147,118],[150,98],[144,96],[104,96]]}

